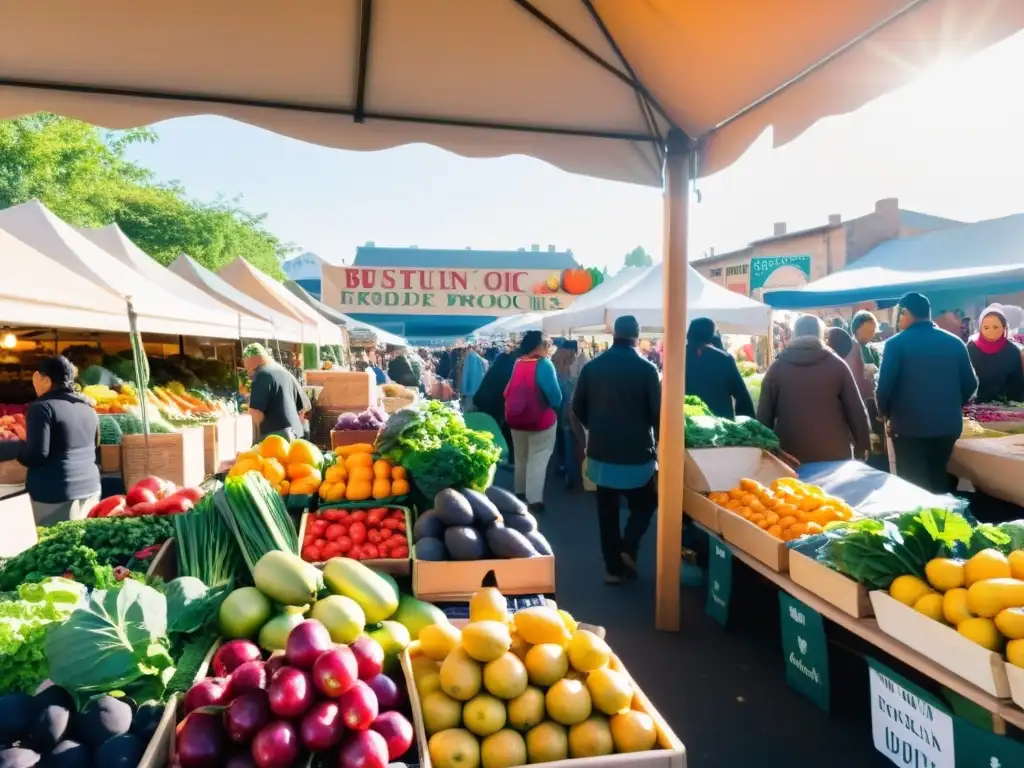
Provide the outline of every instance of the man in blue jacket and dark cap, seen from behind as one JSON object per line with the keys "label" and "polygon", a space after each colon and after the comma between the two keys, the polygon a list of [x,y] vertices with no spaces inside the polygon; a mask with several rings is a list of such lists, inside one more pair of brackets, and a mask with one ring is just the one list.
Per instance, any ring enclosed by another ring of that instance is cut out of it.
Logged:
{"label": "man in blue jacket and dark cap, seen from behind", "polygon": [[879,413],[889,421],[896,474],[936,494],[949,490],[946,464],[964,429],[963,408],[978,389],[964,342],[932,323],[920,293],[900,299],[899,333],[886,342]]}

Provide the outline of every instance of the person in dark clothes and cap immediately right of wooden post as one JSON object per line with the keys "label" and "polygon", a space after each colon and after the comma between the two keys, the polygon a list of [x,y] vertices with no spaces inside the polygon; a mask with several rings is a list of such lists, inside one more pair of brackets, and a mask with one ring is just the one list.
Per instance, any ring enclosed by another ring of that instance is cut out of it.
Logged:
{"label": "person in dark clothes and cap immediately right of wooden post", "polygon": [[[716,340],[718,343],[716,343]],[[699,397],[722,419],[754,418],[754,400],[735,358],[724,351],[710,317],[696,317],[686,331],[686,394]]]}

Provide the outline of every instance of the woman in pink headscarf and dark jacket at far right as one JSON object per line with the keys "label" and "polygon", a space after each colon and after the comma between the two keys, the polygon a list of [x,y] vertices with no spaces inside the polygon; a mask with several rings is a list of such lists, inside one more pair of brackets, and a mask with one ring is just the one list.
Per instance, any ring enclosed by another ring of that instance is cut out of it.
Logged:
{"label": "woman in pink headscarf and dark jacket at far right", "polygon": [[1010,340],[1007,309],[986,307],[978,321],[978,334],[967,344],[971,365],[978,375],[978,402],[1024,400],[1024,366],[1021,349]]}

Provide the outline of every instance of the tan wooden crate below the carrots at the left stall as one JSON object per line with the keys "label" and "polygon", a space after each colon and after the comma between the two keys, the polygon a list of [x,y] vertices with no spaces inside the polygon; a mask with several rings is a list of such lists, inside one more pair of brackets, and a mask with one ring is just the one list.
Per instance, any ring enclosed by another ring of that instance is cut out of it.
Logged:
{"label": "tan wooden crate below the carrots at the left stall", "polygon": [[178,487],[199,485],[206,477],[203,429],[189,427],[148,437],[126,434],[121,438],[121,464],[126,488],[147,474],[170,480]]}

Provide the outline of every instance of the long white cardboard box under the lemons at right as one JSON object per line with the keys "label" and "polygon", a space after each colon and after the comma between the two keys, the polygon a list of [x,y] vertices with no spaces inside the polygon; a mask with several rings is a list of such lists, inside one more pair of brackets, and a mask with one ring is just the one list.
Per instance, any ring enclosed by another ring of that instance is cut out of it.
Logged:
{"label": "long white cardboard box under the lemons at right", "polygon": [[1007,664],[1002,656],[968,640],[940,624],[894,600],[885,592],[870,593],[879,629],[926,658],[976,685],[996,698],[1010,698]]}

